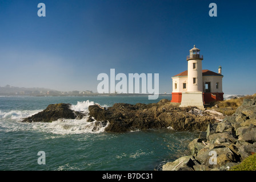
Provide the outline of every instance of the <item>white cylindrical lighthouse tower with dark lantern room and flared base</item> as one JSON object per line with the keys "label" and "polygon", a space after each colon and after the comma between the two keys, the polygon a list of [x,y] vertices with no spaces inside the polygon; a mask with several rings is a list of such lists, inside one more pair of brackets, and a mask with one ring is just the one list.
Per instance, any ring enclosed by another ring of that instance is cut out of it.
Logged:
{"label": "white cylindrical lighthouse tower with dark lantern room and flared base", "polygon": [[182,92],[180,107],[197,106],[203,109],[203,75],[202,75],[203,55],[200,49],[190,49],[187,56],[187,90]]}

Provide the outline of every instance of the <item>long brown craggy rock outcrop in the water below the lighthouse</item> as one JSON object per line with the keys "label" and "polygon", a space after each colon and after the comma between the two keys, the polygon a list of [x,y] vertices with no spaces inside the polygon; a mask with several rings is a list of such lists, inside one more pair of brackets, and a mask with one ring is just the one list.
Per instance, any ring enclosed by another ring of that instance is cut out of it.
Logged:
{"label": "long brown craggy rock outcrop in the water below the lighthouse", "polygon": [[203,131],[209,123],[214,123],[222,117],[218,112],[202,111],[197,107],[179,107],[169,100],[161,100],[153,104],[118,103],[105,109],[92,105],[89,106],[87,121],[108,121],[109,125],[105,131],[110,132],[167,127],[177,131]]}

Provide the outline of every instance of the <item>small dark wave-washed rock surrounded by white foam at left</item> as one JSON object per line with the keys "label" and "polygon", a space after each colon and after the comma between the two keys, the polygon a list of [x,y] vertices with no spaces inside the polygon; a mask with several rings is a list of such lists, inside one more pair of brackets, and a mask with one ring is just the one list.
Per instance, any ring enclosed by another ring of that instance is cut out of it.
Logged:
{"label": "small dark wave-washed rock surrounded by white foam at left", "polygon": [[70,104],[50,104],[45,110],[23,119],[22,122],[52,122],[61,118],[81,119],[83,115],[82,112],[71,110]]}

